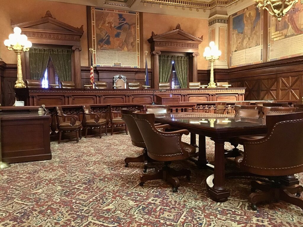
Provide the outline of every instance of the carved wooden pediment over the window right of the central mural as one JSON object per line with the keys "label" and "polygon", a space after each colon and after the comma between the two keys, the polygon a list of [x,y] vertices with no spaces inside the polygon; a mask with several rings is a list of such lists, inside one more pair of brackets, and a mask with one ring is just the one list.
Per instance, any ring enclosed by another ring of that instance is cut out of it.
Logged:
{"label": "carved wooden pediment over the window right of the central mural", "polygon": [[[203,35],[198,38],[181,29],[177,24],[172,31],[160,35],[151,32],[148,42],[151,44],[151,51],[173,51],[173,52],[198,52],[199,44],[203,41]],[[174,51],[174,48],[175,51]]]}

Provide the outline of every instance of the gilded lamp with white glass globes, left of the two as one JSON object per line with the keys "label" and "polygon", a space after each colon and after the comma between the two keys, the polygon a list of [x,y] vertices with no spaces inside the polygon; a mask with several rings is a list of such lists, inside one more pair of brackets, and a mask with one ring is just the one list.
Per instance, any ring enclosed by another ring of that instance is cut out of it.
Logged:
{"label": "gilded lamp with white glass globes, left of the two", "polygon": [[28,51],[32,47],[32,43],[27,40],[26,35],[21,35],[21,29],[18,27],[14,28],[14,34],[10,34],[8,39],[4,41],[4,45],[10,51],[14,51],[17,54],[17,81],[15,88],[26,87],[22,78],[22,67],[21,67],[21,53]]}

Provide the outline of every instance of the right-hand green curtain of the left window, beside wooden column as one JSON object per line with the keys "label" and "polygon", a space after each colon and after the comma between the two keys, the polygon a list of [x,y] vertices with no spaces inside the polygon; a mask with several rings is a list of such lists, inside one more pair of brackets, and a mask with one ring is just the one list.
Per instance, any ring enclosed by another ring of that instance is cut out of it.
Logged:
{"label": "right-hand green curtain of the left window, beside wooden column", "polygon": [[50,54],[60,81],[72,81],[72,50],[51,49]]}

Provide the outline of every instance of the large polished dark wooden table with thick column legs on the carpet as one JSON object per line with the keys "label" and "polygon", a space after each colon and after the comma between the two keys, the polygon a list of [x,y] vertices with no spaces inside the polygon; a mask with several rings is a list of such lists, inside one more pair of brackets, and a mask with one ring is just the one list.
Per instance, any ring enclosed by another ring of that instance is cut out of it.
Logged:
{"label": "large polished dark wooden table with thick column legs on the carpet", "polygon": [[232,137],[254,136],[267,133],[267,127],[263,119],[246,119],[234,117],[215,117],[201,115],[181,118],[156,118],[156,122],[170,124],[178,129],[187,129],[191,133],[199,135],[199,157],[197,164],[211,168],[206,160],[205,136],[215,141],[215,168],[214,174],[206,180],[211,199],[217,202],[225,202],[230,192],[225,186],[224,142]]}

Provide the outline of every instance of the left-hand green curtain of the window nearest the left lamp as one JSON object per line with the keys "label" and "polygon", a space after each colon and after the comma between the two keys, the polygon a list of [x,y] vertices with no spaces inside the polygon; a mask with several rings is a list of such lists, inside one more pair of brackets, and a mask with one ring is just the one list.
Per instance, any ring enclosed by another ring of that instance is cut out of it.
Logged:
{"label": "left-hand green curtain of the window nearest the left lamp", "polygon": [[50,49],[30,48],[28,51],[29,74],[32,80],[42,80],[49,60]]}

